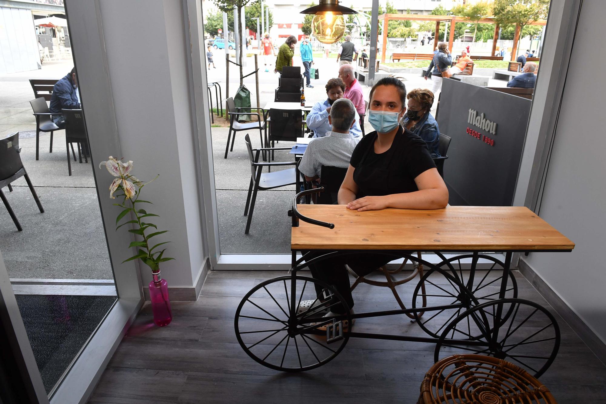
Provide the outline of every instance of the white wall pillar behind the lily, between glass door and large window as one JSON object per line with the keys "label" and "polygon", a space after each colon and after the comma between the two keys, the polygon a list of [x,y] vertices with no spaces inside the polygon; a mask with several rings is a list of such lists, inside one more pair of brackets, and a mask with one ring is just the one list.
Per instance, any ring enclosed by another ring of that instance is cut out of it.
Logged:
{"label": "white wall pillar behind the lily, between glass door and large window", "polygon": [[[122,153],[139,180],[160,177],[143,190],[152,221],[173,241],[162,274],[173,288],[191,288],[204,251],[194,129],[190,109],[184,12],[180,1],[108,0],[99,3]],[[151,280],[141,265],[144,286]]]}

